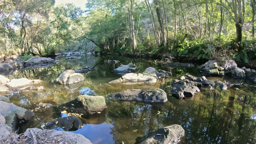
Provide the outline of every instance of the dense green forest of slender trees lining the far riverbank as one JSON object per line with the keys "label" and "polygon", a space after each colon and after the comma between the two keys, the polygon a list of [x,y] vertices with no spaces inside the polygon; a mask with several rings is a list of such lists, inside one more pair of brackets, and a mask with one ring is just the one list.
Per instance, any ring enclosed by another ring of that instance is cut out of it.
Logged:
{"label": "dense green forest of slender trees lining the far riverbank", "polygon": [[256,0],[1,0],[1,55],[94,51],[256,58]]}

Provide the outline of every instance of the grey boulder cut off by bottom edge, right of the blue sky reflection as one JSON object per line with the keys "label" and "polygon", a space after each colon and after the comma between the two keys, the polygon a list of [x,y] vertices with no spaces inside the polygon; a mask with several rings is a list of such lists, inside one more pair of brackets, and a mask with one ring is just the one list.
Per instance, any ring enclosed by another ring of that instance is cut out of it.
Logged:
{"label": "grey boulder cut off by bottom edge, right of the blue sky reflection", "polygon": [[148,134],[146,138],[136,144],[177,144],[184,135],[185,131],[182,126],[173,124]]}

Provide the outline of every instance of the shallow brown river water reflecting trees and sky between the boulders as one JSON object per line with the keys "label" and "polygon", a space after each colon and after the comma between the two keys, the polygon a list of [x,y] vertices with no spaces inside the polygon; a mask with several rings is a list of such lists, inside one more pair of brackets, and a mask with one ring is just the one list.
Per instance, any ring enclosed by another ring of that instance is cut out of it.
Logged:
{"label": "shallow brown river water reflecting trees and sky between the boulders", "polygon": [[[182,139],[184,144],[256,143],[256,84],[248,80],[236,80],[237,85],[222,92],[218,88],[209,90],[200,88],[201,92],[193,98],[177,100],[170,95],[170,82],[184,74],[200,76],[197,68],[168,68],[155,64],[154,60],[140,60],[123,56],[94,57],[82,56],[81,59],[66,60],[48,68],[22,70],[7,76],[10,79],[26,77],[43,80],[36,86],[44,90],[36,91],[32,87],[29,92],[14,92],[7,97],[18,106],[33,110],[36,104],[51,103],[53,108],[38,110],[34,117],[22,124],[19,133],[26,128],[40,128],[41,124],[55,118],[65,117],[57,106],[68,102],[81,94],[104,96],[107,108],[100,114],[83,115],[84,126],[76,131],[93,144],[133,144],[143,139],[145,134],[154,132],[171,124],[179,124],[185,130]],[[119,60],[119,64],[109,64],[108,60]],[[120,78],[112,70],[120,64],[133,63],[137,72],[143,72],[148,67],[172,72],[173,76],[158,80],[154,85],[144,84],[108,84],[111,80]],[[195,64],[196,65],[196,64]],[[90,67],[94,70],[84,74],[84,84],[75,87],[60,86],[53,81],[64,70],[81,70]],[[230,81],[229,78],[208,78],[209,80]],[[108,95],[127,89],[161,88],[168,95],[164,104],[145,104],[143,102],[126,102],[115,100]],[[239,90],[234,90],[239,88]],[[56,130],[62,128],[53,127]]]}

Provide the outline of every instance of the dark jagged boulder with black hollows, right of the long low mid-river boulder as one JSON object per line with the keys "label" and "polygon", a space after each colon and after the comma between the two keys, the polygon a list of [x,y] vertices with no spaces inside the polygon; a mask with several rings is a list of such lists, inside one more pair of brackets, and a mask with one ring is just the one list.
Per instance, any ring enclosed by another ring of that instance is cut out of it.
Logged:
{"label": "dark jagged boulder with black hollows, right of the long low mid-river boulder", "polygon": [[197,92],[200,92],[197,86],[189,81],[173,80],[171,94],[176,98],[192,97]]}

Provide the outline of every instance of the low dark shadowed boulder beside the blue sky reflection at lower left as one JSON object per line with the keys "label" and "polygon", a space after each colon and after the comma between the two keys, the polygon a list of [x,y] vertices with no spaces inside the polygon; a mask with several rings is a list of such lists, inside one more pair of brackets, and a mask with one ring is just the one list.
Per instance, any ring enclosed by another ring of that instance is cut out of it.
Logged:
{"label": "low dark shadowed boulder beside the blue sky reflection at lower left", "polygon": [[70,130],[77,130],[83,126],[82,120],[76,116],[67,116],[64,118],[56,118],[44,124],[44,129],[50,129],[54,125],[58,126],[59,128],[64,129],[65,131]]}

